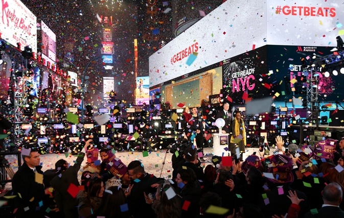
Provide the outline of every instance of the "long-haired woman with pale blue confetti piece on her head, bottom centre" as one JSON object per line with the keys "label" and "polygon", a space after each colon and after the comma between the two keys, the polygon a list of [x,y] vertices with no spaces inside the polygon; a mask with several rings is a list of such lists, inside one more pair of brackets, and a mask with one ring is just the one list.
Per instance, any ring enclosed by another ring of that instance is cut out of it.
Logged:
{"label": "long-haired woman with pale blue confetti piece on her head, bottom centre", "polygon": [[[181,217],[181,206],[178,201],[178,196],[168,199],[166,190],[172,188],[174,192],[176,190],[170,185],[169,182],[160,184],[157,187],[155,201],[152,205],[152,209],[157,214],[157,218],[179,218]],[[146,198],[147,199],[147,198]],[[147,201],[146,201],[147,202]]]}

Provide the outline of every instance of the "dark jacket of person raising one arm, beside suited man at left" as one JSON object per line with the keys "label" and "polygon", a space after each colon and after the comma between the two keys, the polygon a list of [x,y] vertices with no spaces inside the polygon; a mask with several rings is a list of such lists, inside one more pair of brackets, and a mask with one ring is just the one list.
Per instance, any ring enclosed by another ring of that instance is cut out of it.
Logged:
{"label": "dark jacket of person raising one arm, beside suited man at left", "polygon": [[84,160],[85,153],[80,153],[73,166],[68,167],[64,172],[57,173],[57,176],[50,182],[54,188],[54,198],[59,210],[64,213],[65,217],[77,217],[79,203],[78,199],[73,198],[68,193],[68,188],[71,183],[79,186],[78,172],[82,161]]}

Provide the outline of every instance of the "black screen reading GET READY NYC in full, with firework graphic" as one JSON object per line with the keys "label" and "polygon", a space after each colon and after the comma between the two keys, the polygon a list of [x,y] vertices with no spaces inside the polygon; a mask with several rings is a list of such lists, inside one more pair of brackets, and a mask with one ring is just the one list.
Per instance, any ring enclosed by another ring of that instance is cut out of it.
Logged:
{"label": "black screen reading GET READY NYC in full, with firework graphic", "polygon": [[264,98],[271,92],[267,78],[266,46],[227,59],[223,61],[223,85],[226,86],[223,97],[233,103],[241,103],[246,98]]}

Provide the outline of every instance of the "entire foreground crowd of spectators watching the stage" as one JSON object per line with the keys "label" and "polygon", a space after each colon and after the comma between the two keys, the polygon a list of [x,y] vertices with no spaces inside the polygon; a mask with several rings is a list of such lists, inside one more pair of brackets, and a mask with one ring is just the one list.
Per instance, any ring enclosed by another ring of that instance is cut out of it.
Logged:
{"label": "entire foreground crowd of spectators watching the stage", "polygon": [[[146,173],[139,160],[124,165],[111,150],[94,148],[92,140],[86,141],[74,165],[59,160],[51,172],[41,171],[39,154],[31,149],[22,155],[24,163],[13,178],[13,215],[344,217],[344,140],[337,145],[327,137],[314,149],[303,146],[289,154],[282,151],[284,142],[278,136],[277,155],[264,158],[260,150],[245,161],[237,154],[213,156],[213,164],[204,168],[193,143],[183,140],[189,146],[173,154],[173,173],[167,180]],[[39,175],[44,176],[42,182]]]}

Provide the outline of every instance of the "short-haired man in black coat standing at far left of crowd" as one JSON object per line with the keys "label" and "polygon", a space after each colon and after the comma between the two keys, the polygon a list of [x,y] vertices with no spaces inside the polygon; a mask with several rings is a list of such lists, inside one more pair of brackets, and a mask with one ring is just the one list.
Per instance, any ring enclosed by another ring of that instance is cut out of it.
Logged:
{"label": "short-haired man in black coat standing at far left of crowd", "polygon": [[[36,173],[43,174],[39,165],[40,158],[37,150],[31,149],[30,155],[22,155],[24,163],[14,174],[12,188],[17,196],[16,217],[44,217],[43,200],[48,195],[43,183],[36,181]],[[42,181],[41,181],[42,182]]]}

